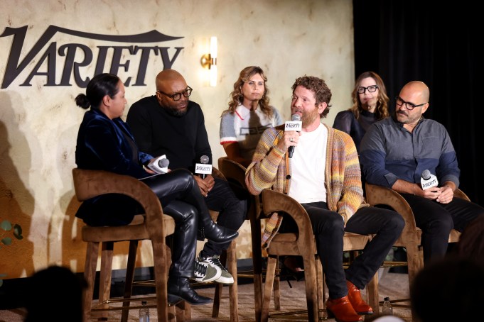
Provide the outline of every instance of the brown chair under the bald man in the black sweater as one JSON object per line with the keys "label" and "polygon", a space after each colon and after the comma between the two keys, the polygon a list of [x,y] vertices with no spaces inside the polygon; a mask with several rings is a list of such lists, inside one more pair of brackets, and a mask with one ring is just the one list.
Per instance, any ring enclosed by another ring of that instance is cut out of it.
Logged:
{"label": "brown chair under the bald man in the black sweater", "polygon": [[[232,161],[227,157],[220,157],[218,159],[218,169],[224,175],[227,181],[237,184],[242,189],[247,190],[245,184],[245,167],[240,165],[240,163]],[[248,193],[248,190],[247,190]],[[261,205],[259,196],[250,195],[250,204],[247,211],[247,220],[250,222],[251,226],[251,239],[252,239],[252,272],[247,272],[242,274],[243,277],[252,277],[254,279],[254,309],[255,309],[255,319],[259,321],[260,315],[262,313],[262,248],[261,248],[261,221],[259,214],[261,213]],[[237,276],[237,253],[236,253],[236,243],[235,240],[227,249],[227,270],[229,270],[232,276]],[[232,267],[232,270],[231,270]],[[235,278],[236,281],[236,278]],[[230,297],[230,321],[238,321],[238,295],[237,295],[237,281],[229,287],[229,297]],[[222,285],[217,286],[218,293],[215,293],[214,307],[213,307],[213,317],[218,316],[218,305],[220,305],[220,292],[222,291]],[[280,309],[279,302],[279,278],[274,281],[274,298],[276,301],[276,308]],[[232,309],[232,307],[234,309]],[[216,310],[216,311],[215,311]],[[215,313],[216,312],[216,313]]]}

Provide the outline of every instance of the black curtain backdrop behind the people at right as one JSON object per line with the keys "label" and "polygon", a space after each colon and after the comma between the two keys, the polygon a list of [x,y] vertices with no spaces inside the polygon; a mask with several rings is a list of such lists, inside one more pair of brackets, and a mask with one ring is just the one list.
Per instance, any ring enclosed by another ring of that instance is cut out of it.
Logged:
{"label": "black curtain backdrop behind the people at right", "polygon": [[[447,128],[461,169],[461,186],[484,204],[484,16],[470,1],[353,0],[355,77],[380,74],[394,111],[394,97],[412,80],[429,86],[424,113]],[[480,126],[483,126],[481,128]]]}

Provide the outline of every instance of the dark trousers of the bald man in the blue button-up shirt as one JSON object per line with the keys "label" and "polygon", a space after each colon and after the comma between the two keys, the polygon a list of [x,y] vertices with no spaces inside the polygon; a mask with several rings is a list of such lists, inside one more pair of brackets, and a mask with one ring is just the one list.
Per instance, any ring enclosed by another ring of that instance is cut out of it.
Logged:
{"label": "dark trousers of the bald man in the blue button-up shirt", "polygon": [[460,198],[453,198],[448,204],[440,204],[413,194],[402,196],[414,212],[416,226],[422,230],[424,262],[446,254],[448,234],[452,229],[462,232],[470,221],[484,216],[483,207]]}

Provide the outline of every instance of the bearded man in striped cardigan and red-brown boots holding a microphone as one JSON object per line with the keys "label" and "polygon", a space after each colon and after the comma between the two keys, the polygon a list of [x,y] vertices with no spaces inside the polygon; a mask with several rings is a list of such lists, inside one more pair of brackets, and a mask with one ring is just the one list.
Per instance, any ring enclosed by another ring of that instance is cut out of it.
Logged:
{"label": "bearded man in striped cardigan and red-brown boots holding a microphone", "polygon": [[[360,289],[372,279],[402,233],[398,213],[365,203],[361,170],[350,135],[321,123],[330,108],[331,91],[318,77],[304,76],[292,86],[291,115],[299,115],[302,131],[268,128],[259,140],[245,181],[252,194],[274,189],[306,209],[316,238],[329,289],[327,309],[336,321],[362,321],[373,310]],[[289,157],[288,148],[294,149]],[[283,221],[284,218],[284,221]],[[295,231],[294,221],[274,213],[263,236],[267,248],[277,231]],[[343,270],[345,231],[374,234],[361,255]]]}

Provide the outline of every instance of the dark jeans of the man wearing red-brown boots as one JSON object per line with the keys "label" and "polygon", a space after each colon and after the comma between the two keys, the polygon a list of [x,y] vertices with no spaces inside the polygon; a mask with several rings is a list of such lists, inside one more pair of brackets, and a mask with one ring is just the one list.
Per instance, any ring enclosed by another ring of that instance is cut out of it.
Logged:
{"label": "dark jeans of the man wearing red-brown boots", "polygon": [[[339,299],[348,294],[346,280],[363,289],[382,265],[405,222],[395,211],[375,207],[364,207],[356,211],[346,223],[343,217],[328,210],[326,202],[302,204],[308,212],[316,238],[316,248],[326,274],[330,299]],[[294,221],[284,216],[282,231],[294,231]],[[291,227],[292,226],[292,227]],[[280,231],[281,231],[280,230]],[[343,270],[343,235],[345,231],[361,235],[375,234],[362,254],[357,256],[348,270]]]}

